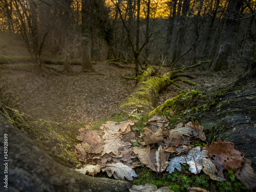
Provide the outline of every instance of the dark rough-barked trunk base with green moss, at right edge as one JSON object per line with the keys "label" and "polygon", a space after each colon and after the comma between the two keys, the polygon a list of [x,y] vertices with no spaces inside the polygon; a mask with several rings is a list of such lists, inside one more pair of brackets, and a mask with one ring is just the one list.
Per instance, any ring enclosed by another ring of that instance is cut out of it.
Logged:
{"label": "dark rough-barked trunk base with green moss, at right edge", "polygon": [[210,91],[190,91],[158,106],[153,114],[172,110],[183,120],[195,117],[209,143],[221,138],[252,160],[256,170],[256,63],[228,86]]}

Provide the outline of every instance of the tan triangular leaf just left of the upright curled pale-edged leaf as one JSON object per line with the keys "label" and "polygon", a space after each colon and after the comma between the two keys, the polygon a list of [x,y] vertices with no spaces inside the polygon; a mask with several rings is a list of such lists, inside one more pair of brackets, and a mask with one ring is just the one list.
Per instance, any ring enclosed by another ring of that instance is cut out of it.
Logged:
{"label": "tan triangular leaf just left of the upright curled pale-edged leaf", "polygon": [[135,146],[132,148],[132,151],[138,156],[141,163],[154,170],[154,172],[157,171],[154,158],[156,150],[150,150],[150,145],[147,145],[146,147],[143,147],[142,145],[140,147]]}

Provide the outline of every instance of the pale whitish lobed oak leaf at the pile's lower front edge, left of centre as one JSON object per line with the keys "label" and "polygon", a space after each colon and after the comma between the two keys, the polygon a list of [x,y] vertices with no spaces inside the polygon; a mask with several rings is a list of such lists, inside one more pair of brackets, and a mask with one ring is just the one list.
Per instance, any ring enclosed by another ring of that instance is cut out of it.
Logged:
{"label": "pale whitish lobed oak leaf at the pile's lower front edge, left of centre", "polygon": [[123,163],[110,163],[106,164],[104,168],[101,168],[102,172],[106,172],[109,177],[112,175],[115,179],[124,180],[124,177],[130,181],[133,180],[133,177],[137,177],[135,171]]}

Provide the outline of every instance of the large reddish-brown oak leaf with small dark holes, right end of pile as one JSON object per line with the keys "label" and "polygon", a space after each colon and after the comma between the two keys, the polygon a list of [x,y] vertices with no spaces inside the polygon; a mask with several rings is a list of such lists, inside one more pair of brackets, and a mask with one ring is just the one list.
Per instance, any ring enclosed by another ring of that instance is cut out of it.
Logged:
{"label": "large reddish-brown oak leaf with small dark holes, right end of pile", "polygon": [[234,149],[234,144],[231,142],[221,142],[221,138],[217,142],[212,142],[211,145],[206,144],[203,150],[209,152],[209,157],[214,161],[218,168],[232,170],[236,173],[237,169],[242,167],[244,162],[242,152]]}

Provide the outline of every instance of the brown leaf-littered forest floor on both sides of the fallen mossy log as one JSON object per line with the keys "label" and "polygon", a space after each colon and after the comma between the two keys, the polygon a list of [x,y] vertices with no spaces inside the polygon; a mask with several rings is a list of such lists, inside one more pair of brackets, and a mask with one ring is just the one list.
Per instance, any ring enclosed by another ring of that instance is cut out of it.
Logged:
{"label": "brown leaf-littered forest floor on both sides of the fallen mossy log", "polygon": [[[119,66],[125,66],[120,67]],[[62,66],[53,66],[62,70]],[[32,63],[18,62],[0,65],[0,99],[14,109],[36,118],[57,122],[86,121],[95,122],[105,114],[117,110],[120,103],[135,88],[135,80],[127,80],[122,74],[132,74],[133,65],[123,63],[104,63],[94,65],[96,73],[80,73],[81,66],[71,66],[72,74],[48,74],[35,77]],[[160,67],[158,67],[160,69]],[[164,73],[169,68],[162,67]],[[178,82],[179,89],[173,84],[162,91],[156,106],[165,100],[192,89],[210,90],[232,82],[237,74],[232,72],[203,71],[199,68],[186,71],[193,75],[198,86],[191,87]]]}

